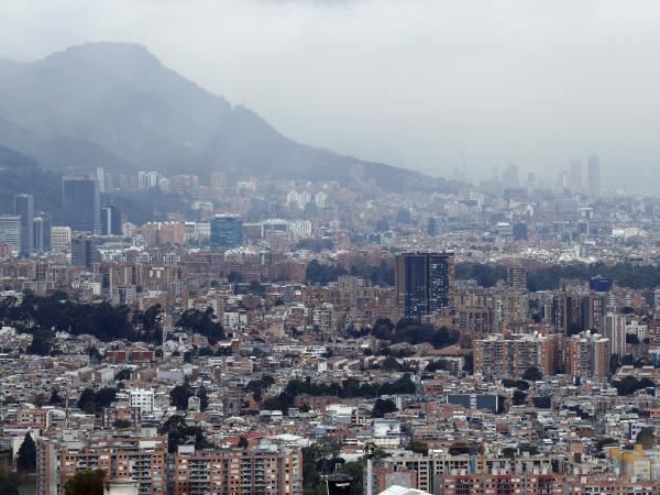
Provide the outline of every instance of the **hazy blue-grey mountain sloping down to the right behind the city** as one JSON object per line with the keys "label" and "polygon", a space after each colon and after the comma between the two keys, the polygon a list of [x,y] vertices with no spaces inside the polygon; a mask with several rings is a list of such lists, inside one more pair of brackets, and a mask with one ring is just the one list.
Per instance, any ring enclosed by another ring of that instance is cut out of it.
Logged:
{"label": "hazy blue-grey mountain sloping down to the right behind the city", "polygon": [[285,138],[134,44],[72,46],[34,63],[0,62],[0,145],[52,169],[102,166],[339,180],[388,190],[446,185]]}

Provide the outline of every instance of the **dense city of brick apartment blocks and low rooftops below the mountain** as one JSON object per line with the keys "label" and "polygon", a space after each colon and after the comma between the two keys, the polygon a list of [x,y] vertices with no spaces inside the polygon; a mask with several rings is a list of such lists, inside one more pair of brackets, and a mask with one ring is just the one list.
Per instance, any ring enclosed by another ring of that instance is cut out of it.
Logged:
{"label": "dense city of brick apartment blocks and low rooftops below the mountain", "polygon": [[[4,465],[40,495],[97,473],[144,495],[657,494],[660,199],[586,162],[415,196],[359,167],[75,170],[58,219],[16,194]],[[136,224],[121,189],[187,208]]]}

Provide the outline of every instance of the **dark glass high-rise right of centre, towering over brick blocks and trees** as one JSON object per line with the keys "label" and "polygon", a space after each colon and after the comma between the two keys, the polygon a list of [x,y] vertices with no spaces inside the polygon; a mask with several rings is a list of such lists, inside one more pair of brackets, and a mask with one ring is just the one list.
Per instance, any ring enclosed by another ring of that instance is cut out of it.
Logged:
{"label": "dark glass high-rise right of centre, towering over brick blocks and trees", "polygon": [[399,318],[417,319],[453,309],[453,253],[398,254],[395,277]]}

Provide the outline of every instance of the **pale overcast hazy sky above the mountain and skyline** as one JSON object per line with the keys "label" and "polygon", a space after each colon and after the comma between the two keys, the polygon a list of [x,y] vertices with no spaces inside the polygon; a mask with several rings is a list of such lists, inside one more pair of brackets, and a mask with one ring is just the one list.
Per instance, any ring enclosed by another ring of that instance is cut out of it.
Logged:
{"label": "pale overcast hazy sky above the mountain and skyline", "polygon": [[657,0],[2,0],[0,20],[2,58],[138,42],[297,141],[436,175],[461,151],[488,175],[660,169]]}

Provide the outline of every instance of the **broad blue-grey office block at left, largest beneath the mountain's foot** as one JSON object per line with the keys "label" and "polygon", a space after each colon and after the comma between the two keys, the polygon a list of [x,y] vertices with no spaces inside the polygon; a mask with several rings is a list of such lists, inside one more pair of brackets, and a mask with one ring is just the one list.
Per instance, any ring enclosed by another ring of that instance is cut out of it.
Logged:
{"label": "broad blue-grey office block at left, largest beneath the mountain's foot", "polygon": [[101,195],[96,178],[70,175],[62,182],[65,223],[78,232],[101,232]]}

